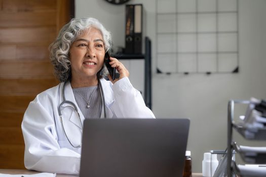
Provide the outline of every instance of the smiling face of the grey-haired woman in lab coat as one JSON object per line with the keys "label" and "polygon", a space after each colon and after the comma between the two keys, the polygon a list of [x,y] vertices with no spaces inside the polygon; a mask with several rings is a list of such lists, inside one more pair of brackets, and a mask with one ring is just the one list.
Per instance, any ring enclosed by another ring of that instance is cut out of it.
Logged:
{"label": "smiling face of the grey-haired woman in lab coat", "polygon": [[84,31],[72,43],[69,51],[72,79],[95,78],[103,66],[104,54],[101,32],[93,27]]}

